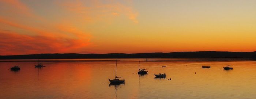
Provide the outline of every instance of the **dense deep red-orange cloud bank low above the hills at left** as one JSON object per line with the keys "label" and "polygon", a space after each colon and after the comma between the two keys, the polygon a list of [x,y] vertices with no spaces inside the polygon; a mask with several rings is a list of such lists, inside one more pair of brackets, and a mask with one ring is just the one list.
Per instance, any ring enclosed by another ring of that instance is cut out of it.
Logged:
{"label": "dense deep red-orange cloud bank low above the hills at left", "polygon": [[89,40],[24,35],[12,31],[0,31],[0,54],[67,53],[89,45]]}

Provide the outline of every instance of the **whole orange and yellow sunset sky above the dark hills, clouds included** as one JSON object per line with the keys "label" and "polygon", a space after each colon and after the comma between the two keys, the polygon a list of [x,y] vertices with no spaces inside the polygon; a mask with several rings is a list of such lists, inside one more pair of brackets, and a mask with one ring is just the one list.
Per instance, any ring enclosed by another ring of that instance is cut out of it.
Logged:
{"label": "whole orange and yellow sunset sky above the dark hills, clouds included", "polygon": [[0,0],[0,55],[256,51],[256,0]]}

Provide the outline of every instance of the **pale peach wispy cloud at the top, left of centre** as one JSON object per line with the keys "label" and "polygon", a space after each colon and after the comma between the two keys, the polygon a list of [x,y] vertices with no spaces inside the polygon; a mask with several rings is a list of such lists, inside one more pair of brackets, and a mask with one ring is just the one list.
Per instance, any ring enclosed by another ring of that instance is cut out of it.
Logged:
{"label": "pale peach wispy cloud at the top, left of centre", "polygon": [[67,11],[73,12],[78,15],[84,21],[97,21],[108,20],[114,18],[113,16],[125,15],[127,19],[132,20],[134,23],[138,23],[138,12],[133,11],[130,6],[126,6],[121,1],[102,1],[93,0],[82,2],[76,1],[59,1],[57,4],[67,9]]}

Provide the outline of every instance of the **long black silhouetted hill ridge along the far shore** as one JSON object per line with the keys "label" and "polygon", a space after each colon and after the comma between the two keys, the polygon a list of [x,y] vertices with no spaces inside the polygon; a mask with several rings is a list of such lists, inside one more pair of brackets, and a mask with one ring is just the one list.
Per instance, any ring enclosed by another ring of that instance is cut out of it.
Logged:
{"label": "long black silhouetted hill ridge along the far shore", "polygon": [[74,58],[256,58],[256,52],[172,52],[172,53],[109,53],[109,54],[29,54],[0,56],[4,59],[74,59]]}

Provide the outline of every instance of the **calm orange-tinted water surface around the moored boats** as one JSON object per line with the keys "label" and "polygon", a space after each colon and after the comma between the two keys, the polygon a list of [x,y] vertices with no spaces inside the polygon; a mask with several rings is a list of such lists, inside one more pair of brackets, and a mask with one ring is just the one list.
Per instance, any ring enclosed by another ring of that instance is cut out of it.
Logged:
{"label": "calm orange-tinted water surface around the moored boats", "polygon": [[[0,99],[256,99],[256,61],[141,60],[149,72],[141,76],[138,59],[118,59],[125,84],[109,85],[115,59],[78,60],[43,60],[41,69],[37,61],[0,62]],[[8,70],[14,65],[20,71]],[[233,70],[223,70],[226,65]],[[159,73],[167,78],[155,79]]]}

